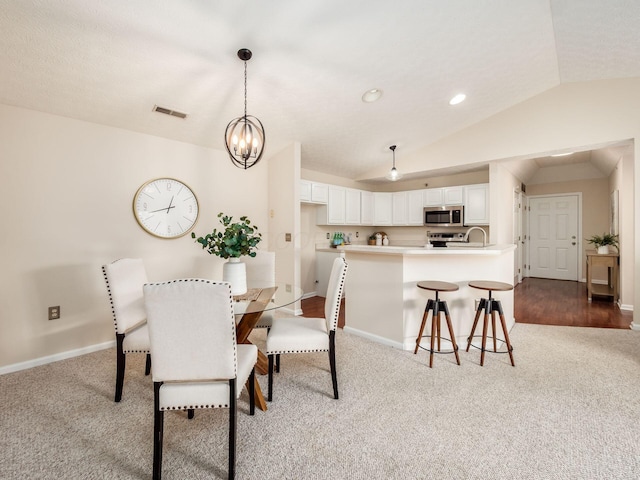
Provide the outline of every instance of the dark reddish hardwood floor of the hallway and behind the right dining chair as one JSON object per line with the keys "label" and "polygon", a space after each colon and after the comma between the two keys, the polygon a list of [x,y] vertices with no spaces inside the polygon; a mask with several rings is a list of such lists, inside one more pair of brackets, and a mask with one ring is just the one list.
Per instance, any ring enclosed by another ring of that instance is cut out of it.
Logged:
{"label": "dark reddish hardwood floor of the hallway and behind the right dining chair", "polygon": [[[587,302],[585,283],[526,278],[514,291],[514,315],[518,323],[573,327],[629,328],[632,312],[622,311],[610,298]],[[344,302],[338,327],[344,327]],[[324,317],[324,297],[302,300],[305,317]]]}

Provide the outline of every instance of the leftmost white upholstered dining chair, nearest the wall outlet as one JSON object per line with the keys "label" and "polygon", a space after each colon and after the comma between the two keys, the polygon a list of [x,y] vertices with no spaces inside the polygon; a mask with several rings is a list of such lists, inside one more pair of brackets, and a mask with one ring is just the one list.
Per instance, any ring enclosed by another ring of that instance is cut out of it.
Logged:
{"label": "leftmost white upholstered dining chair, nearest the wall outlet", "polygon": [[116,329],[115,401],[119,402],[122,399],[126,355],[146,354],[145,375],[149,375],[151,370],[147,315],[142,294],[142,286],[147,283],[147,272],[141,259],[122,258],[103,265],[102,273]]}

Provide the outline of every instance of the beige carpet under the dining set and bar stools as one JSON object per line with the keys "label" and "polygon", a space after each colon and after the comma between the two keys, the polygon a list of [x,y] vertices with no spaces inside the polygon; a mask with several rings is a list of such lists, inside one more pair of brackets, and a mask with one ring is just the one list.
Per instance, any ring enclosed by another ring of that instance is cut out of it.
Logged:
{"label": "beige carpet under the dining set and bar stools", "polygon": [[[639,478],[640,333],[516,324],[511,339],[515,368],[472,349],[430,369],[340,331],[337,401],[326,354],[284,357],[267,412],[240,400],[238,478]],[[114,350],[0,376],[0,477],[150,479],[143,362],[120,404]],[[226,478],[226,441],[226,410],[167,414],[163,478]]]}

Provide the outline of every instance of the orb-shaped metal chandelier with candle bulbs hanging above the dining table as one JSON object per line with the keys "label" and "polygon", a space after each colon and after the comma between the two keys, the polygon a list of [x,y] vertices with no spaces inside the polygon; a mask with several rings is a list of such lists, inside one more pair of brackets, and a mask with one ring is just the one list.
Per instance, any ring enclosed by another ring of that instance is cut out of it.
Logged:
{"label": "orb-shaped metal chandelier with candle bulbs hanging above the dining table", "polygon": [[229,158],[236,167],[245,170],[260,161],[266,140],[262,122],[247,115],[247,61],[251,55],[247,48],[238,50],[238,58],[244,61],[244,115],[231,120],[224,132]]}

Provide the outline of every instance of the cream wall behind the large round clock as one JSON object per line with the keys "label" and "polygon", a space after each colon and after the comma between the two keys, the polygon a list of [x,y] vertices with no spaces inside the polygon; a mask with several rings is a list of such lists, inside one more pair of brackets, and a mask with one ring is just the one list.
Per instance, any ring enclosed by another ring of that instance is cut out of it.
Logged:
{"label": "cream wall behind the large round clock", "polygon": [[[218,212],[248,215],[269,247],[267,160],[244,171],[222,149],[0,105],[0,368],[114,339],[104,263],[141,257],[151,281],[221,276],[189,236],[136,223],[133,195],[164,176],[196,193],[198,235]],[[52,305],[59,320],[47,320]]]}

